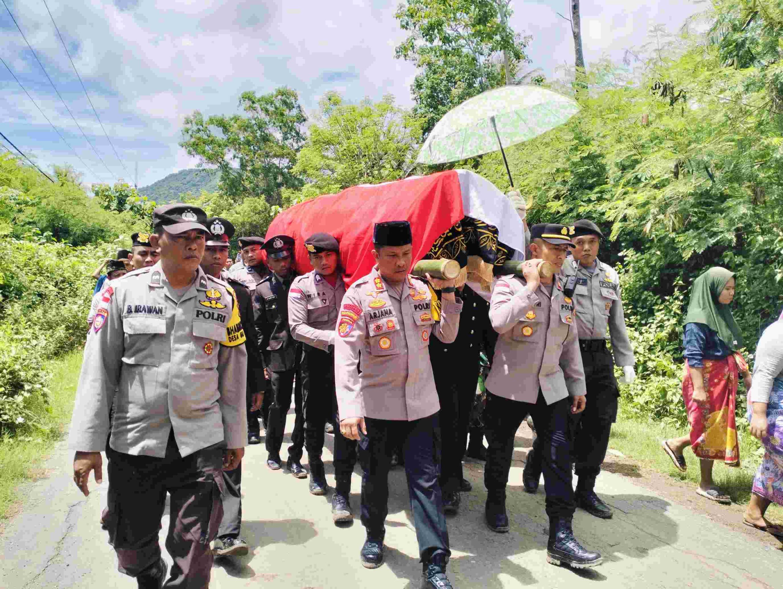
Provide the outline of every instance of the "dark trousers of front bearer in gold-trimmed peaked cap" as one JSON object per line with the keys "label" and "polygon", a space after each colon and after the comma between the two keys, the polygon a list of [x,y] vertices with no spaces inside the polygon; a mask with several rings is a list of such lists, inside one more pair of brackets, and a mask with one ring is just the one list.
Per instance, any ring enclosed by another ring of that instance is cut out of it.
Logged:
{"label": "dark trousers of front bearer in gold-trimmed peaked cap", "polygon": [[547,405],[540,390],[536,403],[498,397],[487,391],[484,425],[489,448],[484,485],[488,494],[505,493],[514,454],[514,435],[522,421],[532,415],[542,448],[539,454],[547,490],[547,515],[550,519],[571,518],[575,506],[568,435],[570,414],[570,397]]}

